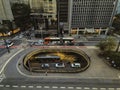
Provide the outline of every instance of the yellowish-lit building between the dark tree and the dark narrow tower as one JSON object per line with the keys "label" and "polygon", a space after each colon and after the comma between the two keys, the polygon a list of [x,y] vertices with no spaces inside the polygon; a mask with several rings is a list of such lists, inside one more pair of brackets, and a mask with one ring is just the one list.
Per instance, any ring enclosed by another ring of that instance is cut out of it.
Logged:
{"label": "yellowish-lit building between the dark tree and the dark narrow tower", "polygon": [[[40,23],[43,28],[52,24],[55,21],[57,14],[56,0],[30,0],[31,16],[37,23]],[[44,22],[44,24],[42,24]],[[46,23],[46,24],[45,24]],[[35,26],[38,28],[39,26]]]}

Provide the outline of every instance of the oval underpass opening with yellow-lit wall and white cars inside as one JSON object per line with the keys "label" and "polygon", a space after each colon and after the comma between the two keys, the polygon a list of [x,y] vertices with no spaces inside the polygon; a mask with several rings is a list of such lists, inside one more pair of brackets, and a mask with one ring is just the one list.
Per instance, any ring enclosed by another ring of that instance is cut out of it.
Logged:
{"label": "oval underpass opening with yellow-lit wall and white cars inside", "polygon": [[82,50],[40,49],[28,53],[23,59],[23,66],[30,72],[77,73],[90,66],[90,58]]}

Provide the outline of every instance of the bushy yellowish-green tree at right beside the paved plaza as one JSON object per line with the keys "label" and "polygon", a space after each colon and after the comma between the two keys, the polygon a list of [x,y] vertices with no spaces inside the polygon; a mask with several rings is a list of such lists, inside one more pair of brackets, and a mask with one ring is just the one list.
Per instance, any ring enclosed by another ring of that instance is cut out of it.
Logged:
{"label": "bushy yellowish-green tree at right beside the paved plaza", "polygon": [[116,39],[113,37],[108,37],[105,40],[102,40],[97,46],[100,48],[102,51],[112,51],[113,49],[116,48]]}

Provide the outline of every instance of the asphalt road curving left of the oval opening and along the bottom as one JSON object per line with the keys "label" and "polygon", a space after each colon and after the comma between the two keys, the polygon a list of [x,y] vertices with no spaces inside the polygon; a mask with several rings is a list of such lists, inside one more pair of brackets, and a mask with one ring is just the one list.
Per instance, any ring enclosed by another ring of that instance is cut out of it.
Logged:
{"label": "asphalt road curving left of the oval opening and along the bottom", "polygon": [[[21,42],[16,41],[16,45]],[[93,43],[92,43],[93,44]],[[96,43],[95,43],[96,44]],[[87,45],[91,45],[87,43]],[[15,56],[6,66],[5,79],[0,83],[0,90],[120,90],[120,83],[111,83],[97,79],[52,79],[49,78],[28,78],[19,74],[16,68],[18,59],[29,52]]]}

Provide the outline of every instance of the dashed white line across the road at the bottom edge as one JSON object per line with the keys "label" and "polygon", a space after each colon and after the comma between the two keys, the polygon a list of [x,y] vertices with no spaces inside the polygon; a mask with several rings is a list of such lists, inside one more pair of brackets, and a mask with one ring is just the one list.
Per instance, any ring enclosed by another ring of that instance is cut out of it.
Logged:
{"label": "dashed white line across the road at the bottom edge", "polygon": [[113,87],[79,87],[79,86],[44,86],[44,85],[39,85],[39,86],[32,86],[32,85],[0,85],[0,89],[1,88],[28,88],[28,89],[52,89],[52,90],[55,90],[55,89],[61,89],[61,90],[120,90],[120,87],[119,88],[113,88]]}

